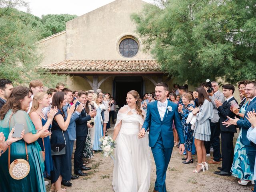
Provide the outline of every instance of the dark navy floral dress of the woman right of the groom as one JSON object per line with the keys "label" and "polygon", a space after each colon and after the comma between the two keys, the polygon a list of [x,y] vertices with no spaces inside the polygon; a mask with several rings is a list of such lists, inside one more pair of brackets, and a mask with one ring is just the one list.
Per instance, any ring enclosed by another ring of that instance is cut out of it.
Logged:
{"label": "dark navy floral dress of the woman right of the groom", "polygon": [[187,106],[183,106],[183,114],[180,113],[180,116],[182,118],[181,124],[184,131],[184,138],[185,138],[185,150],[186,151],[192,151],[192,144],[193,144],[193,130],[191,129],[191,124],[186,123],[186,120],[188,118],[188,114],[190,113],[190,110],[188,110],[189,107],[195,107],[193,104],[188,104]]}

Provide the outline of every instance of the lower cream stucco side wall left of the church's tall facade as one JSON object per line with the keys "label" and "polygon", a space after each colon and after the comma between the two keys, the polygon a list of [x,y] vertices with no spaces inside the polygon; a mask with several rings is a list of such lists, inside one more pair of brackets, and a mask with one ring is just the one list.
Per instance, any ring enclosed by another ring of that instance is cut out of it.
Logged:
{"label": "lower cream stucco side wall left of the church's tall facade", "polygon": [[42,54],[40,66],[66,60],[66,32],[60,32],[38,42],[38,52]]}

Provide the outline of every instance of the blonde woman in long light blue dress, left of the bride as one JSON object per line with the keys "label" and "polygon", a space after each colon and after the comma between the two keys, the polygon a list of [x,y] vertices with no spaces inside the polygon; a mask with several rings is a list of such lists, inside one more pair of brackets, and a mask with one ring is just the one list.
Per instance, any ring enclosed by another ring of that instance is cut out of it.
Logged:
{"label": "blonde woman in long light blue dress, left of the bride", "polygon": [[102,138],[102,116],[101,112],[102,110],[105,110],[105,105],[102,104],[102,95],[98,95],[96,100],[95,100],[95,106],[97,110],[97,114],[94,117],[94,126],[95,126],[95,131],[94,131],[94,143],[93,143],[93,150],[98,151],[100,150],[100,141],[99,139]]}

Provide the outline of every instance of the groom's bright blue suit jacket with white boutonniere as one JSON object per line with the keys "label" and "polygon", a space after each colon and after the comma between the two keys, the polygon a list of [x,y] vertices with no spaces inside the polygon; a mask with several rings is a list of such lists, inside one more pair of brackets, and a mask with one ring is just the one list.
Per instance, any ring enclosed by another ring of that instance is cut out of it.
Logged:
{"label": "groom's bright blue suit jacket with white boutonniere", "polygon": [[149,128],[149,146],[155,146],[160,134],[162,136],[164,148],[172,148],[174,146],[172,120],[174,120],[174,124],[180,138],[180,143],[184,144],[185,140],[180,116],[178,113],[178,105],[168,100],[167,106],[171,106],[172,111],[166,109],[164,118],[161,121],[160,114],[157,108],[157,102],[158,101],[148,103],[147,116],[142,126],[142,128],[145,128],[145,130]]}

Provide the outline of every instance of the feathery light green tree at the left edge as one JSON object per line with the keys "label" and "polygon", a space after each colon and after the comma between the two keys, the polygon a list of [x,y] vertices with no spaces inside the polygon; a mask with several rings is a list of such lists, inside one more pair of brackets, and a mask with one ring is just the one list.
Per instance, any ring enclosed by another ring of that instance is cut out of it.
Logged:
{"label": "feathery light green tree at the left edge", "polygon": [[41,58],[36,51],[36,42],[41,37],[38,18],[19,12],[10,4],[7,7],[2,5],[0,4],[0,77],[8,78],[14,84],[28,84],[32,79],[41,79],[46,86],[65,81],[65,76],[36,71]]}

